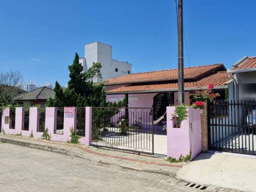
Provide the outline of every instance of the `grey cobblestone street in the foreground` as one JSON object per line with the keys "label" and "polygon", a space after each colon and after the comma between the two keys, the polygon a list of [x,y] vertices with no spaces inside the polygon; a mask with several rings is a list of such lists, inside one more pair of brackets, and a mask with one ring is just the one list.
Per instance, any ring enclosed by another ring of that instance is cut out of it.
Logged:
{"label": "grey cobblestone street in the foreground", "polygon": [[[1,192],[208,191],[161,174],[0,142]],[[222,191],[212,189],[212,191]]]}

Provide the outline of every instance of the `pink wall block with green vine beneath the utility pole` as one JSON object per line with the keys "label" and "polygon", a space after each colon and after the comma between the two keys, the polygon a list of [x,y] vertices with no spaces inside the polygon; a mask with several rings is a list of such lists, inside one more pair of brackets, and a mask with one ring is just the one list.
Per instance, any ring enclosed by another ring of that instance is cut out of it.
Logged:
{"label": "pink wall block with green vine beneath the utility pole", "polygon": [[173,127],[172,117],[175,107],[167,107],[167,156],[178,159],[190,154],[191,160],[201,152],[200,109],[187,108],[188,117],[180,128]]}

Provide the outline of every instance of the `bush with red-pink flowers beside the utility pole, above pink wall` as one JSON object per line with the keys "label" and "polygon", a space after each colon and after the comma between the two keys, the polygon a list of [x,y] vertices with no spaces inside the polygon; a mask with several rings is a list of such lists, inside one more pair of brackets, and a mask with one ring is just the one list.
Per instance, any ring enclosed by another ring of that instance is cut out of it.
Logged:
{"label": "bush with red-pink flowers beside the utility pole, above pink wall", "polygon": [[213,93],[214,84],[209,84],[207,90],[194,91],[190,96],[192,96],[192,107],[193,108],[204,108],[204,102],[209,100],[212,102],[216,97],[220,96],[218,93]]}

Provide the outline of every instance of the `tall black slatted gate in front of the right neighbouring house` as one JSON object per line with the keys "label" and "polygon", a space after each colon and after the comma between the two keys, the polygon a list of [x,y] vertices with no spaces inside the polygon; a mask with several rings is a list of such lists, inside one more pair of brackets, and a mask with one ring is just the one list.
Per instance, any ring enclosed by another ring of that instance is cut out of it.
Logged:
{"label": "tall black slatted gate in front of the right neighbouring house", "polygon": [[256,101],[208,103],[210,149],[256,154]]}

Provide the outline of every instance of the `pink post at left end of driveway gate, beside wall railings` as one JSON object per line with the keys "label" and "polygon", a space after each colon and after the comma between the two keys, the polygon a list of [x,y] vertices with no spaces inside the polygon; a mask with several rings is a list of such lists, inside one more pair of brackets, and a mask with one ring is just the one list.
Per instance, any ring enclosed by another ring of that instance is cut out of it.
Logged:
{"label": "pink post at left end of driveway gate, beside wall railings", "polygon": [[92,144],[92,107],[85,107],[85,144]]}

